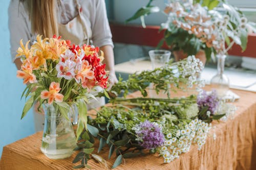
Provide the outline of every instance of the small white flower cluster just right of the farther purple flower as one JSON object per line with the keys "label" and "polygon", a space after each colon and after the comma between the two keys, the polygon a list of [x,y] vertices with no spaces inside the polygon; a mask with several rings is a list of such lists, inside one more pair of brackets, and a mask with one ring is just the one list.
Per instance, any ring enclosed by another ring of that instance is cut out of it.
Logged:
{"label": "small white flower cluster just right of the farther purple flower", "polygon": [[226,121],[227,119],[234,118],[234,114],[236,113],[237,107],[226,103],[225,101],[220,101],[219,106],[215,114],[225,114],[225,116],[221,117],[220,120]]}

